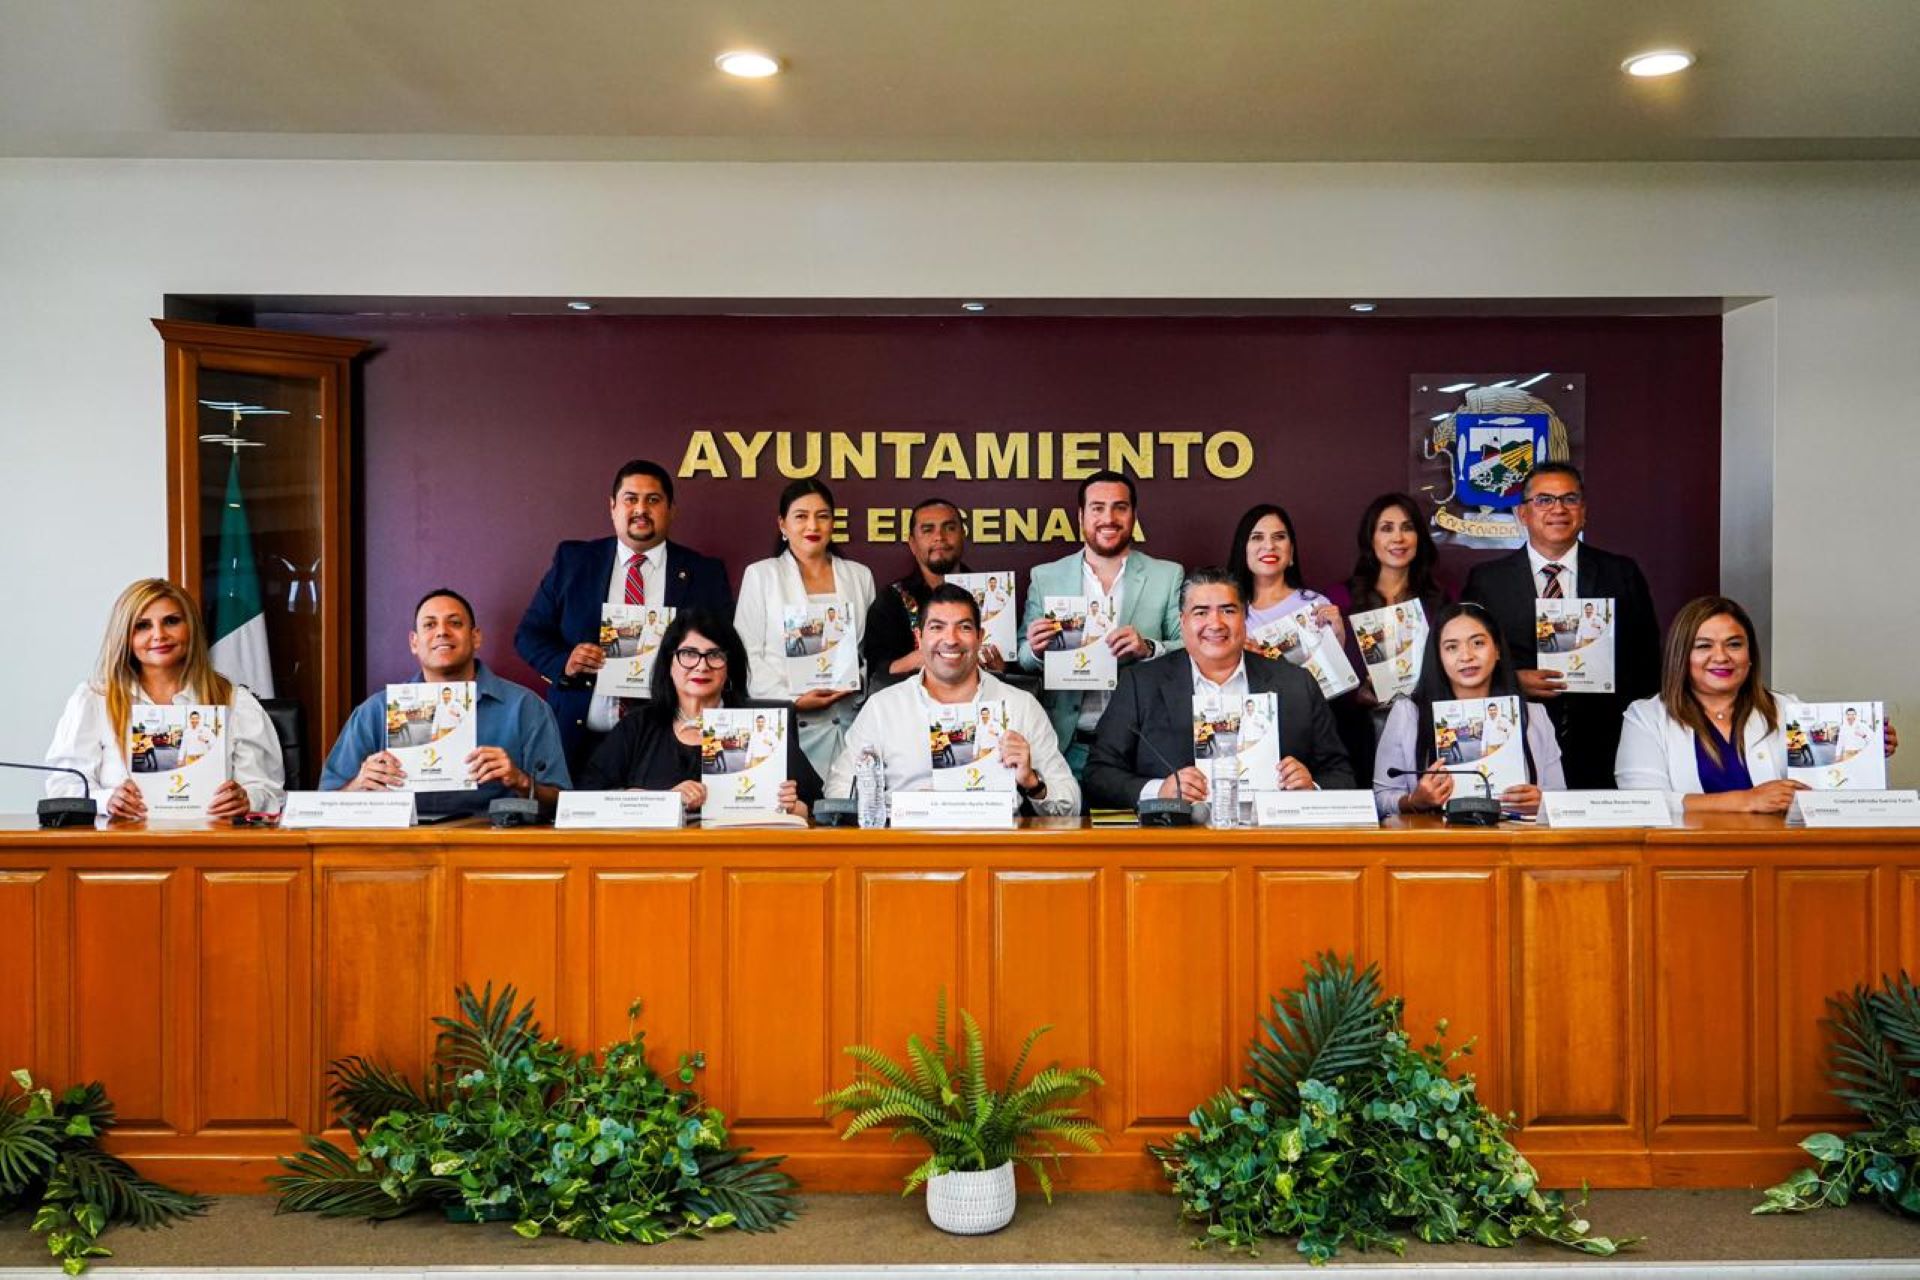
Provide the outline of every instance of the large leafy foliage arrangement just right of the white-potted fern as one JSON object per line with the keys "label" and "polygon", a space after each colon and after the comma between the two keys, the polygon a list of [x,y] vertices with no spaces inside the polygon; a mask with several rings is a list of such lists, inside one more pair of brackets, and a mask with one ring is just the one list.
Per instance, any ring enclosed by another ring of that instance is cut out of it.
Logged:
{"label": "large leafy foliage arrangement just right of the white-potted fern", "polygon": [[1269,1236],[1298,1236],[1325,1263],[1342,1245],[1402,1253],[1407,1228],[1430,1244],[1534,1236],[1599,1255],[1632,1244],[1594,1236],[1584,1201],[1540,1190],[1511,1125],[1480,1105],[1471,1075],[1452,1075],[1471,1044],[1448,1050],[1442,1023],[1415,1048],[1375,965],[1321,956],[1269,1004],[1254,1086],[1223,1090],[1190,1132],[1152,1148],[1183,1215],[1206,1224],[1194,1247],[1258,1253]]}

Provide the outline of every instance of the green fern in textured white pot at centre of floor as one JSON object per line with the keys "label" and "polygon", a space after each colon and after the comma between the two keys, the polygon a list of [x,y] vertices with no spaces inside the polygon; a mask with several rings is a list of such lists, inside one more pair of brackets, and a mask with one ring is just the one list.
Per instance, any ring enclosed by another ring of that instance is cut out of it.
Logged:
{"label": "green fern in textured white pot at centre of floor", "polygon": [[987,1082],[987,1048],[979,1023],[960,1009],[960,1044],[947,1040],[947,992],[933,1009],[933,1046],[918,1034],[906,1038],[906,1063],[879,1050],[847,1048],[860,1071],[854,1082],[820,1100],[828,1115],[852,1115],[841,1138],[868,1128],[887,1128],[893,1140],[920,1138],[931,1153],[910,1174],[902,1196],[927,1188],[927,1219],[943,1232],[981,1236],[1014,1221],[1014,1165],[1025,1165],[1041,1184],[1046,1203],[1054,1182],[1043,1157],[1060,1163],[1056,1144],[1098,1151],[1102,1130],[1071,1107],[1089,1088],[1104,1084],[1092,1067],[1048,1065],[1021,1084],[1035,1040],[1052,1031],[1027,1032],[1000,1088]]}

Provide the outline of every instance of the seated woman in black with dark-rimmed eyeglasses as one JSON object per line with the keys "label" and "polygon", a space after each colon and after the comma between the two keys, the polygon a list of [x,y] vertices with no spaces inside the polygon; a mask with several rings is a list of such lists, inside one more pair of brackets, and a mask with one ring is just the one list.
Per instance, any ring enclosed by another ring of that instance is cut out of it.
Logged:
{"label": "seated woman in black with dark-rimmed eyeglasses", "polygon": [[[580,773],[582,791],[678,791],[689,814],[707,802],[701,781],[701,712],[760,706],[747,697],[747,645],[724,616],[682,608],[666,626],[653,660],[651,697],[628,712]],[[772,702],[770,706],[783,706]],[[787,718],[787,781],[780,806],[806,818],[820,798],[820,775],[801,750]]]}

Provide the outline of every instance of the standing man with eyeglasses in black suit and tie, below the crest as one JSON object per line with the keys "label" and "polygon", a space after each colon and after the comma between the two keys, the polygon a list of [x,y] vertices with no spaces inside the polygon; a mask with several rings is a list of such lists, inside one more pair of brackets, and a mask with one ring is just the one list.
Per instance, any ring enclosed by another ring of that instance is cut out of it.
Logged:
{"label": "standing man with eyeglasses in black suit and tie, below the crest", "polygon": [[[1661,624],[1653,593],[1632,558],[1588,547],[1586,493],[1569,462],[1546,462],[1526,478],[1521,501],[1526,545],[1467,574],[1461,599],[1480,604],[1500,626],[1521,691],[1546,704],[1561,743],[1567,785],[1613,789],[1626,704],[1661,691]],[[1567,693],[1567,677],[1534,666],[1534,601],[1613,599],[1613,693]]]}

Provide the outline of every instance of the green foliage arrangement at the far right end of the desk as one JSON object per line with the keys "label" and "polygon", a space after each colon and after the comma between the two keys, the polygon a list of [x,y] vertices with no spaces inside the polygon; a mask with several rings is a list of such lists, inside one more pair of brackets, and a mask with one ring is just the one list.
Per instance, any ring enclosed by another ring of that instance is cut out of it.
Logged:
{"label": "green foliage arrangement at the far right end of the desk", "polygon": [[1795,1169],[1766,1188],[1755,1213],[1805,1213],[1872,1196],[1882,1209],[1920,1217],[1920,990],[1901,971],[1880,988],[1855,986],[1828,1000],[1834,1096],[1860,1113],[1866,1126],[1847,1134],[1811,1134],[1801,1150],[1812,1169]]}

